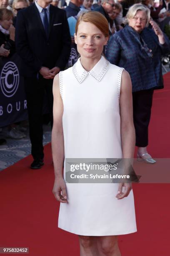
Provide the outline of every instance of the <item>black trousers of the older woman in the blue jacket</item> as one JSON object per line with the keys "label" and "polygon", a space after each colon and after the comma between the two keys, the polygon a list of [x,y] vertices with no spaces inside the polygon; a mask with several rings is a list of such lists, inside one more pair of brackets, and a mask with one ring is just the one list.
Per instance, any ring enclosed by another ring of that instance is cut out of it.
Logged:
{"label": "black trousers of the older woman in the blue jacket", "polygon": [[148,126],[150,122],[153,89],[133,92],[133,122],[136,146],[148,146]]}

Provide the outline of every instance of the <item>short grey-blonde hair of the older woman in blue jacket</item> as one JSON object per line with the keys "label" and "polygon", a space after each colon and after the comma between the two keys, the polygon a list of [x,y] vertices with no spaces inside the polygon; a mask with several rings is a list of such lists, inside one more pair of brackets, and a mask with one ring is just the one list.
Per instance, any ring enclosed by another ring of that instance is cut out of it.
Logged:
{"label": "short grey-blonde hair of the older woman in blue jacket", "polygon": [[147,22],[146,22],[146,27],[148,27],[149,25],[149,22],[150,22],[150,9],[148,7],[146,7],[145,5],[142,5],[142,4],[135,4],[135,5],[132,5],[129,10],[128,10],[128,13],[126,15],[126,20],[125,20],[125,24],[128,24],[128,19],[132,19],[135,17],[136,13],[141,10],[143,12],[145,12],[146,14],[146,19],[147,19]]}

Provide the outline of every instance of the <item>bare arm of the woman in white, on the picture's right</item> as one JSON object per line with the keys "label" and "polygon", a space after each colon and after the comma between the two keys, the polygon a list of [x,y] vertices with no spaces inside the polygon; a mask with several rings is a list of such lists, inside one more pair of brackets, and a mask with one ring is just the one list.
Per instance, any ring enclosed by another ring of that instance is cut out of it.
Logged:
{"label": "bare arm of the woman in white, on the picture's right", "polygon": [[[132,83],[129,73],[125,70],[122,72],[120,87],[120,123],[123,158],[130,160],[134,157],[135,128],[133,124]],[[132,161],[128,162],[129,164],[132,164]],[[125,165],[126,164],[127,163],[125,161]],[[124,192],[122,191],[122,187],[124,187]],[[120,183],[118,187],[118,194],[116,195],[117,199],[127,197],[131,189],[131,183]]]}

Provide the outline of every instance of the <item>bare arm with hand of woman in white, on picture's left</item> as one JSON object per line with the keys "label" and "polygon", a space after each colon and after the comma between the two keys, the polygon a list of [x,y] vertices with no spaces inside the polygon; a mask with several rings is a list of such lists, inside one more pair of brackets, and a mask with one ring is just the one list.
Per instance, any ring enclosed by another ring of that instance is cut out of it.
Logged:
{"label": "bare arm with hand of woman in white, on picture's left", "polygon": [[[64,136],[62,128],[63,103],[60,95],[59,74],[53,82],[53,127],[52,127],[52,158],[54,163],[55,182],[53,193],[60,202],[67,202],[65,180],[63,178]],[[62,192],[62,195],[61,195]]]}

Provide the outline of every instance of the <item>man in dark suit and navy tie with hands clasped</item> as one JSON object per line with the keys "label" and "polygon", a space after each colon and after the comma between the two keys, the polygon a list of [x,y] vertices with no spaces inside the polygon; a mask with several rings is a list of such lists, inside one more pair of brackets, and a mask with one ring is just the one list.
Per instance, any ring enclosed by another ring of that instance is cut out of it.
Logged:
{"label": "man in dark suit and navy tie with hands clasped", "polygon": [[52,83],[65,68],[70,56],[70,32],[65,10],[50,5],[52,0],[37,0],[17,15],[15,42],[22,59],[30,123],[32,169],[43,165],[42,108],[46,97],[52,126]]}

